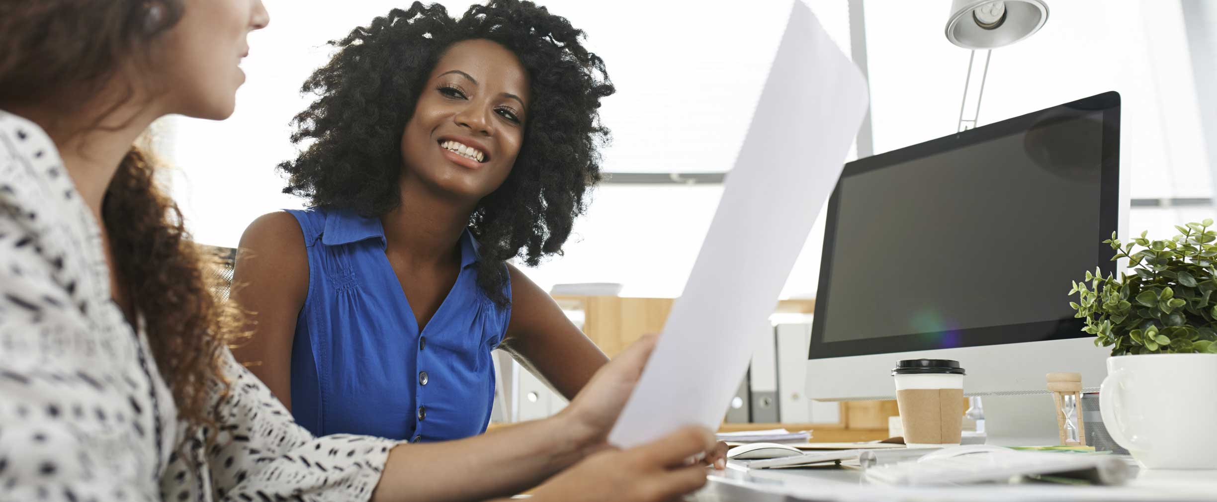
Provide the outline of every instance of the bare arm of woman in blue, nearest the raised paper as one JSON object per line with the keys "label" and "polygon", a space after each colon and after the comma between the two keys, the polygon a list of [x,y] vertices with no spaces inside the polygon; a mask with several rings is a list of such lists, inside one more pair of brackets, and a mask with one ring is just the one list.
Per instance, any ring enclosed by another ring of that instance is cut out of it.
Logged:
{"label": "bare arm of woman in blue, nearest the raised paper", "polygon": [[511,321],[503,349],[535,370],[566,399],[574,399],[608,357],[566,318],[557,303],[515,266],[511,273]]}

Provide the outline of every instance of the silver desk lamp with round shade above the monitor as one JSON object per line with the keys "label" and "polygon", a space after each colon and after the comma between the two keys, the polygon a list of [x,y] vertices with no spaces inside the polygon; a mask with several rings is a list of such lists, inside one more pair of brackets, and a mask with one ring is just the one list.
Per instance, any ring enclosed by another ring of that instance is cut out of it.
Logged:
{"label": "silver desk lamp with round shade above the monitor", "polygon": [[[1048,4],[1044,0],[952,0],[947,40],[972,51],[968,58],[964,100],[959,105],[959,131],[976,126],[993,49],[1031,36],[1047,21]],[[980,85],[972,90],[971,81],[976,72],[980,73],[976,77]]]}

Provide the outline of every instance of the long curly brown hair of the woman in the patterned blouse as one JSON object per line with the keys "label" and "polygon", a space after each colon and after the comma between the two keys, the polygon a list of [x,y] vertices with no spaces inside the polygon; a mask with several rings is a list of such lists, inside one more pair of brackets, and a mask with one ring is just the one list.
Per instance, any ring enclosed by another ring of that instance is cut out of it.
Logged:
{"label": "long curly brown hair of the woman in the patterned blouse", "polygon": [[[150,9],[159,9],[148,16]],[[66,117],[101,92],[122,63],[150,63],[150,49],[183,16],[181,0],[0,0],[0,107],[54,107]],[[110,103],[100,117],[136,95]],[[135,146],[106,188],[102,219],[116,271],[142,317],[157,368],[191,433],[213,425],[228,383],[221,355],[239,311],[211,294],[214,265],[190,241],[181,211]],[[219,399],[208,391],[219,382]]]}

